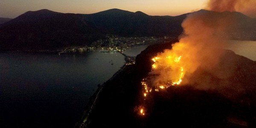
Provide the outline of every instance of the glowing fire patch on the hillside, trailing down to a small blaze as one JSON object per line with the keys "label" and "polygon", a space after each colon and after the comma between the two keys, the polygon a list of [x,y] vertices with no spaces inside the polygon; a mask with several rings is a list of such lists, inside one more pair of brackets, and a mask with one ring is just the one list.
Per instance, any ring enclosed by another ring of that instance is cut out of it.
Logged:
{"label": "glowing fire patch on the hillside, trailing down to a small blaze", "polygon": [[[146,78],[141,81],[143,86],[143,106],[147,106],[145,102],[150,101],[152,98],[152,90],[160,92],[166,88],[179,85],[182,82],[184,76],[184,69],[180,61],[182,56],[168,55],[157,56],[152,58],[154,64],[152,64],[152,70]],[[140,108],[140,115],[145,115],[145,108]]]}

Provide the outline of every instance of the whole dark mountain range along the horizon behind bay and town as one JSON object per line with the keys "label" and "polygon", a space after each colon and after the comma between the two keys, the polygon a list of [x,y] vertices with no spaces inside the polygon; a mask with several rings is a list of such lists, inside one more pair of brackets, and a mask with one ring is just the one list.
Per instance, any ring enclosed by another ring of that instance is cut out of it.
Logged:
{"label": "whole dark mountain range along the horizon behind bay and town", "polygon": [[[256,19],[238,12],[197,13],[233,15],[241,21],[240,29],[255,31]],[[178,36],[187,14],[150,16],[143,12],[109,9],[94,14],[64,14],[47,9],[29,11],[0,25],[0,50],[57,49],[86,45],[106,34],[119,36]],[[253,27],[251,27],[253,26]]]}

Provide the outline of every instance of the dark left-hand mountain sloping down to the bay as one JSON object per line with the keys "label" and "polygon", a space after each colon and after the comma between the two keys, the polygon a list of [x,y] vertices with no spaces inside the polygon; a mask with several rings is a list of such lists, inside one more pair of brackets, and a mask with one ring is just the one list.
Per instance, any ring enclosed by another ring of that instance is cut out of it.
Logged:
{"label": "dark left-hand mountain sloping down to the bay", "polygon": [[3,24],[0,33],[1,50],[56,49],[87,44],[98,36],[82,15],[46,9],[20,15]]}

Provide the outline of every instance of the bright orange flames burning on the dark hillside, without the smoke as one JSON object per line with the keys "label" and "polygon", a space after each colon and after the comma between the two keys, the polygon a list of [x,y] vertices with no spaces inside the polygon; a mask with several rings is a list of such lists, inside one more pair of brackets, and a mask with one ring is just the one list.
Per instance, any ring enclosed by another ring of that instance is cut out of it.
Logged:
{"label": "bright orange flames burning on the dark hillside, without the smoke", "polygon": [[[152,90],[159,92],[159,90],[166,89],[173,85],[179,85],[181,83],[184,76],[184,69],[180,65],[181,58],[181,55],[169,55],[166,56],[164,59],[160,56],[151,59],[152,61],[154,61],[154,64],[152,64],[152,74],[159,75],[165,74],[165,72],[173,72],[173,76],[169,76],[170,79],[168,79],[168,81],[157,81],[155,83],[150,82],[150,79],[143,79],[141,84],[144,88],[143,96],[145,99]],[[144,109],[140,109],[140,115],[145,115]]]}

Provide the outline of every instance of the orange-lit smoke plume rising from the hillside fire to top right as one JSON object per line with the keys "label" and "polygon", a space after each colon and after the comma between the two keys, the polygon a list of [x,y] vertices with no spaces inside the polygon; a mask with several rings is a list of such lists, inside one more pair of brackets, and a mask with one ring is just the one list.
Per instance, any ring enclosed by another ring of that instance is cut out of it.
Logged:
{"label": "orange-lit smoke plume rising from the hillside fire to top right", "polygon": [[[256,5],[254,0],[209,0],[207,9],[239,11],[256,16],[253,5]],[[182,79],[181,84],[218,90],[229,97],[244,91],[240,84],[230,86],[234,84],[234,74],[237,72],[236,58],[227,57],[230,53],[223,50],[226,41],[223,35],[233,27],[234,17],[217,12],[201,10],[187,16],[182,23],[184,32],[180,42],[173,44],[171,50],[158,53],[154,59],[151,71],[156,75],[154,86],[161,88],[169,81],[177,83],[178,79]],[[172,61],[177,58],[179,61]]]}

